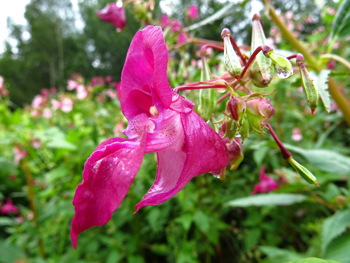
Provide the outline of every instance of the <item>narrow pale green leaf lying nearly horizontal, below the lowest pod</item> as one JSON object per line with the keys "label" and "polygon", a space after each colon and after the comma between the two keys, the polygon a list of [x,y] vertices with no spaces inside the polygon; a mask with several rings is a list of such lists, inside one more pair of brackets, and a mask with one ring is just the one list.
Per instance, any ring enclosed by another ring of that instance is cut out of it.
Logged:
{"label": "narrow pale green leaf lying nearly horizontal, below the lowest pod", "polygon": [[259,207],[265,205],[290,205],[300,203],[306,198],[306,196],[300,194],[269,193],[237,198],[227,202],[226,205],[231,207],[249,207],[252,205]]}

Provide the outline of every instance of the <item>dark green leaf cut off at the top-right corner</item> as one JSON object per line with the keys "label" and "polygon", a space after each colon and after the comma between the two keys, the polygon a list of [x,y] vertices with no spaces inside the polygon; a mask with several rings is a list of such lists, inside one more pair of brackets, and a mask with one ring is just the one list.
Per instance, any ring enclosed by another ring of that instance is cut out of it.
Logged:
{"label": "dark green leaf cut off at the top-right corner", "polygon": [[350,0],[343,0],[332,22],[329,39],[335,42],[344,39],[350,34]]}

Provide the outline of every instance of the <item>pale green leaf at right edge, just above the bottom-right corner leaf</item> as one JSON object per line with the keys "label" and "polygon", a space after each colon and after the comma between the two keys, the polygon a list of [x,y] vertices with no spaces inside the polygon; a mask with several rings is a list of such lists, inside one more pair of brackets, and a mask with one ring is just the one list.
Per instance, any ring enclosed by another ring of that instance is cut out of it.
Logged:
{"label": "pale green leaf at right edge, just above the bottom-right corner leaf", "polygon": [[324,254],[328,244],[337,236],[343,234],[350,226],[350,209],[337,211],[328,217],[322,224],[322,254]]}

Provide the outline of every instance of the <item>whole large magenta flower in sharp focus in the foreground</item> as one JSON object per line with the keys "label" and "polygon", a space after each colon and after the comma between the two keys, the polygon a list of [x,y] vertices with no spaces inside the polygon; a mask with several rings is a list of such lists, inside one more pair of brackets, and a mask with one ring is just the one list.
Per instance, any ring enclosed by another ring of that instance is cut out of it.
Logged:
{"label": "whole large magenta flower in sharp focus in the foreground", "polygon": [[153,186],[136,205],[165,202],[191,178],[221,169],[228,150],[219,135],[193,110],[194,103],[170,89],[168,49],[161,27],[147,26],[134,36],[121,74],[120,105],[128,120],[128,139],[110,138],[87,159],[73,205],[71,238],[103,225],[123,201],[145,153],[157,153]]}

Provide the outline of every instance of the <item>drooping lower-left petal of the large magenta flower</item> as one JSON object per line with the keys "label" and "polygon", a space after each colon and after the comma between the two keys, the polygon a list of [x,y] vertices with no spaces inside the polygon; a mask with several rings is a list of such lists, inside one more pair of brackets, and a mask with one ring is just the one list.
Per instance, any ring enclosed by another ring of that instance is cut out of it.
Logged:
{"label": "drooping lower-left petal of the large magenta flower", "polygon": [[141,141],[111,138],[102,142],[87,159],[83,182],[73,205],[71,238],[77,247],[78,234],[93,225],[103,225],[124,199],[145,153],[146,133]]}

